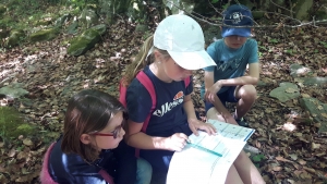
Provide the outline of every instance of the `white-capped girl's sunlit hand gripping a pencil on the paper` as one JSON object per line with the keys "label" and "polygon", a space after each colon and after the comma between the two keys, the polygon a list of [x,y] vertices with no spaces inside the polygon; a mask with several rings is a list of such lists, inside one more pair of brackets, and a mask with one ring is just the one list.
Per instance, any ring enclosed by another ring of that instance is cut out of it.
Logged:
{"label": "white-capped girl's sunlit hand gripping a pencil on the paper", "polygon": [[168,150],[181,151],[185,147],[187,138],[189,137],[183,133],[175,133],[166,138],[165,147]]}

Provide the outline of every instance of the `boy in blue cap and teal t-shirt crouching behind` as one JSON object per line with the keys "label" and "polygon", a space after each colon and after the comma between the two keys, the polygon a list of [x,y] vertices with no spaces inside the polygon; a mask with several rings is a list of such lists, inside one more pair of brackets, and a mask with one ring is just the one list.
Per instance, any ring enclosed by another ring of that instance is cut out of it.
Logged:
{"label": "boy in blue cap and teal t-shirt crouching behind", "polygon": [[[253,16],[242,4],[230,5],[223,13],[222,39],[213,42],[207,52],[217,66],[205,68],[202,96],[207,119],[249,126],[243,115],[256,99],[255,85],[259,79],[257,42],[251,39]],[[244,76],[249,64],[249,75]],[[237,102],[230,113],[226,102]]]}

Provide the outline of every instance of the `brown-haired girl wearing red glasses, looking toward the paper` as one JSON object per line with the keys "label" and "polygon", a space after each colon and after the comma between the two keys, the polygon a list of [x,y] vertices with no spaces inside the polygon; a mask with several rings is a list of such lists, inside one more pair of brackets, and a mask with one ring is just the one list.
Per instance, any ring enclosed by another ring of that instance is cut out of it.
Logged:
{"label": "brown-haired girl wearing red glasses, looking toward the paper", "polygon": [[125,119],[123,106],[106,93],[87,89],[72,97],[63,135],[46,152],[41,183],[149,183],[149,163],[121,142]]}

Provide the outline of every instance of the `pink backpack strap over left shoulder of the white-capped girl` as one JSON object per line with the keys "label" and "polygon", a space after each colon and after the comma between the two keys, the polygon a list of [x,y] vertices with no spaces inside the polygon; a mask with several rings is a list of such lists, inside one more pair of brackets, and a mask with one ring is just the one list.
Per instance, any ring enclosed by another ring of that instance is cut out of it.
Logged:
{"label": "pink backpack strap over left shoulder of the white-capped girl", "polygon": [[[152,118],[153,111],[156,108],[157,105],[157,97],[156,97],[156,90],[154,87],[153,82],[150,81],[150,78],[143,72],[141,71],[137,75],[136,78],[140,81],[140,83],[146,88],[146,90],[149,93],[150,97],[152,97],[152,101],[153,101],[153,106],[150,109],[150,112],[148,113],[148,115],[146,116],[145,121],[143,122],[143,126],[142,126],[142,132],[146,132],[149,119]],[[138,158],[140,157],[140,149],[135,149],[135,156]]]}

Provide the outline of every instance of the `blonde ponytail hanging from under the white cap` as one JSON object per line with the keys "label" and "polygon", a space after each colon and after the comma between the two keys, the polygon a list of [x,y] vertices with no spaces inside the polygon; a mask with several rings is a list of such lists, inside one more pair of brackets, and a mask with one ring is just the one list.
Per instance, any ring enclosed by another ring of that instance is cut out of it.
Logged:
{"label": "blonde ponytail hanging from under the white cap", "polygon": [[[140,49],[140,52],[136,54],[135,60],[128,65],[126,72],[124,75],[124,85],[129,85],[133,78],[135,78],[136,74],[142,71],[146,65],[149,65],[155,61],[154,54],[147,53],[154,47],[154,35],[149,36],[143,44]],[[164,58],[170,57],[166,50],[158,49],[154,47],[154,50],[158,50]],[[146,58],[147,57],[147,58]]]}

